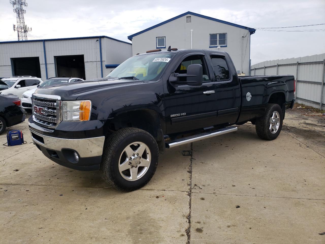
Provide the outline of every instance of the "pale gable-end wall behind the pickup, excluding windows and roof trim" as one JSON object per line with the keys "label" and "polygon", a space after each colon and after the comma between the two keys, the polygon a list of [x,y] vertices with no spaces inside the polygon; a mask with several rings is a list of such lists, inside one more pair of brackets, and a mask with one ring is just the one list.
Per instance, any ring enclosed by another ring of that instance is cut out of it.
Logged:
{"label": "pale gable-end wall behind the pickup, excluding windows and roof trim", "polygon": [[[191,16],[190,23],[186,23],[186,16]],[[190,14],[134,36],[132,38],[133,55],[156,49],[156,37],[159,36],[166,36],[166,48],[171,46],[178,49],[190,49],[191,30],[193,30],[193,49],[217,50],[215,47],[209,47],[209,34],[227,33],[227,47],[221,47],[220,51],[228,52],[236,70],[248,75],[250,55],[250,33],[248,30]],[[242,38],[246,34],[247,36]],[[241,62],[242,60],[243,62]]]}

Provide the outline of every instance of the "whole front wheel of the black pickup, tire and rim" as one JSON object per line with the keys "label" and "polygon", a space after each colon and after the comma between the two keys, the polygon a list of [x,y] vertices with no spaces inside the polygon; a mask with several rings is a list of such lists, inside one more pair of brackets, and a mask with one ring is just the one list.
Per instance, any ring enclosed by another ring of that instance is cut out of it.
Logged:
{"label": "whole front wheel of the black pickup, tire and rim", "polygon": [[147,131],[119,129],[105,140],[100,173],[114,188],[134,191],[150,181],[158,156],[157,142]]}

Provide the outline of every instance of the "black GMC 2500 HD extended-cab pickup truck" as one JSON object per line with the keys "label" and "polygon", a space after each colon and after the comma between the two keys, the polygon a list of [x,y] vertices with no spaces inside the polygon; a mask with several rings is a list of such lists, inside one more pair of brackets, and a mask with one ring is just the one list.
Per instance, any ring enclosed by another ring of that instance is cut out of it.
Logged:
{"label": "black GMC 2500 HD extended-cab pickup truck", "polygon": [[99,169],[113,187],[132,191],[149,182],[166,148],[249,121],[259,137],[276,139],[294,84],[292,75],[238,77],[227,52],[150,50],[106,78],[38,88],[29,128],[54,162]]}

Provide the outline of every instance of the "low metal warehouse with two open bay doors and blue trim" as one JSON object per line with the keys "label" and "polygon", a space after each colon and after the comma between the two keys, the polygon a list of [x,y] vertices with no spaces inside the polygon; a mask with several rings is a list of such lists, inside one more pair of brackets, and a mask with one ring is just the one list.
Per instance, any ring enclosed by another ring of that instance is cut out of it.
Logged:
{"label": "low metal warehouse with two open bay doors and blue trim", "polygon": [[0,42],[0,77],[105,77],[132,56],[131,43],[108,36]]}

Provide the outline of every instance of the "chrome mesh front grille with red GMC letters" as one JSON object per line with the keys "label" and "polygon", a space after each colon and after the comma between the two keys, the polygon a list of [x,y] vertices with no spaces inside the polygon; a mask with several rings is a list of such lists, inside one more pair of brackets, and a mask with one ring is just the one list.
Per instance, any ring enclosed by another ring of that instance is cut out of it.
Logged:
{"label": "chrome mesh front grille with red GMC letters", "polygon": [[45,127],[55,128],[60,122],[60,105],[59,100],[44,99],[33,95],[33,120]]}

